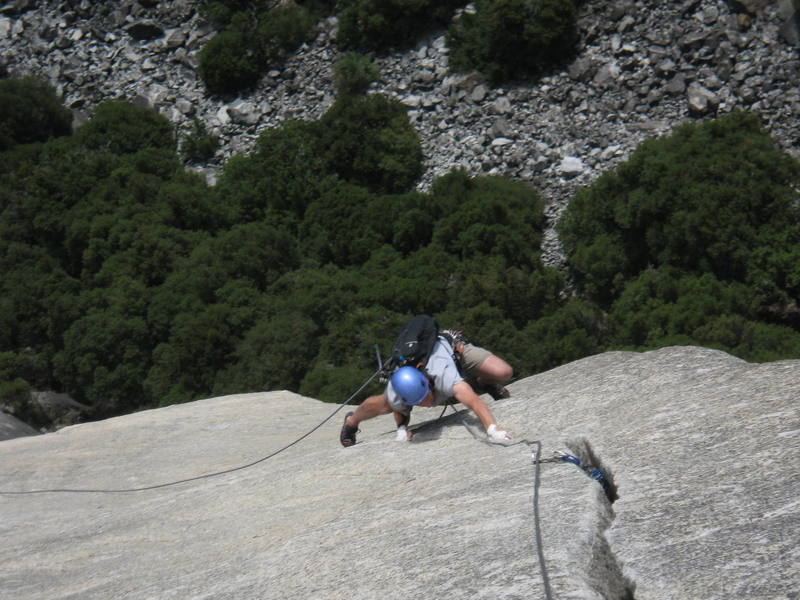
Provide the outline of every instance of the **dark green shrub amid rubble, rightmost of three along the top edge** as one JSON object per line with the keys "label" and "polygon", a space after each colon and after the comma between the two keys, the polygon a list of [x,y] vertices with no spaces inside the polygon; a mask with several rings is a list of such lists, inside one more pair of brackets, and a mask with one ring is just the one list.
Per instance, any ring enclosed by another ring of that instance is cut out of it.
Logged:
{"label": "dark green shrub amid rubble, rightmost of three along the top edge", "polygon": [[495,83],[563,62],[578,41],[572,0],[477,0],[447,34],[450,68]]}

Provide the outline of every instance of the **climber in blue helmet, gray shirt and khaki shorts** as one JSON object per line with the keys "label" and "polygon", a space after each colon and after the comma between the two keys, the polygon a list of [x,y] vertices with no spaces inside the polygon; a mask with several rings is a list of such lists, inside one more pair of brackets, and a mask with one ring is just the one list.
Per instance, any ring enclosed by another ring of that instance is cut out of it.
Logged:
{"label": "climber in blue helmet, gray shirt and khaki shorts", "polygon": [[512,376],[513,369],[503,359],[466,342],[458,332],[440,332],[424,368],[400,367],[383,393],[370,396],[354,412],[347,413],[339,441],[345,447],[354,445],[362,421],[389,413],[394,414],[397,424],[395,439],[410,440],[407,426],[414,406],[441,406],[453,400],[475,413],[490,438],[511,439],[507,431],[498,429],[492,411],[476,391],[487,392],[495,400],[508,398],[510,394],[502,384]]}

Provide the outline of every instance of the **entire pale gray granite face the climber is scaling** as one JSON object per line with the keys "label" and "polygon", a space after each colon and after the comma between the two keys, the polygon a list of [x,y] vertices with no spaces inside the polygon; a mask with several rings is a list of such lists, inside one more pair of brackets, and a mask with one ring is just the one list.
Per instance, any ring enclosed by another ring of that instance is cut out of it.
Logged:
{"label": "entire pale gray granite face the climber is scaling", "polygon": [[[555,598],[795,597],[800,361],[614,352],[510,386],[517,439],[605,470],[541,465]],[[335,406],[288,392],[145,411],[0,444],[0,490],[147,486],[250,463]],[[338,445],[339,413],[270,460],[136,493],[0,495],[0,589],[112,597],[543,598],[531,447],[488,446],[465,413],[419,409]],[[426,421],[427,420],[427,421]]]}

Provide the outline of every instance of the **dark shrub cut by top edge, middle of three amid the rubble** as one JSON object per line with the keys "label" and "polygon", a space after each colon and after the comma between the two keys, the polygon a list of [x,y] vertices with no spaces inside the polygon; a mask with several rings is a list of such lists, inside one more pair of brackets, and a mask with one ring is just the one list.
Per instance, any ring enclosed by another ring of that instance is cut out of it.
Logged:
{"label": "dark shrub cut by top edge, middle of three amid the rubble", "polygon": [[337,42],[345,48],[386,51],[414,43],[445,25],[460,0],[343,0]]}

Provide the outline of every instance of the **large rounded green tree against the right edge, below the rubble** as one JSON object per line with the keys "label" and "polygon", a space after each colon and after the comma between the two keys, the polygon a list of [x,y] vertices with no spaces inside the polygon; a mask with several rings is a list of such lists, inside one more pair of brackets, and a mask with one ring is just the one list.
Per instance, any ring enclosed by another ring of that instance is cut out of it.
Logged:
{"label": "large rounded green tree against the right edge, below the rubble", "polygon": [[570,202],[560,232],[571,268],[604,304],[650,265],[753,284],[769,277],[764,269],[780,271],[758,284],[778,294],[793,267],[764,256],[800,223],[799,178],[800,163],[775,148],[754,114],[684,125]]}

